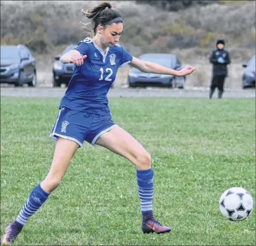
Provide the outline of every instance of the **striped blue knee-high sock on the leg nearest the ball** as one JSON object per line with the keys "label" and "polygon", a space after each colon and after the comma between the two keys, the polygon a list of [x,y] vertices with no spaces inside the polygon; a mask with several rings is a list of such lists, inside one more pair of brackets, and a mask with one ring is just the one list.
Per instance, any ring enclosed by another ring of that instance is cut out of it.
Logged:
{"label": "striped blue knee-high sock on the leg nearest the ball", "polygon": [[153,181],[154,171],[150,168],[147,170],[137,170],[137,182],[139,198],[141,199],[141,212],[147,214],[153,213]]}

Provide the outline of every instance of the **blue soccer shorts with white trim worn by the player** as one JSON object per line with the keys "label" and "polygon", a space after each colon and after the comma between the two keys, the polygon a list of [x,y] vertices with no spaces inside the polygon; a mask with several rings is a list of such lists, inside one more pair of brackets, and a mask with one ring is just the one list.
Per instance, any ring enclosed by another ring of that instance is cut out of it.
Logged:
{"label": "blue soccer shorts with white trim worn by the player", "polygon": [[58,137],[72,140],[82,147],[84,141],[95,145],[96,140],[105,132],[117,126],[111,114],[84,113],[68,108],[61,108],[50,137],[55,141]]}

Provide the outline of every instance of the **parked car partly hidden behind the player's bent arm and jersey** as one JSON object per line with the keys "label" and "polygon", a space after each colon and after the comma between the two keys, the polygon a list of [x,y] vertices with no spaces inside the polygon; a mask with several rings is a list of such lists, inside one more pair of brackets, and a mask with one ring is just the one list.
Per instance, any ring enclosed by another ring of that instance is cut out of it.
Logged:
{"label": "parked car partly hidden behind the player's bent arm and jersey", "polygon": [[63,64],[61,63],[60,58],[63,54],[67,53],[68,51],[71,51],[75,47],[77,47],[77,45],[70,44],[70,46],[67,46],[61,54],[55,56],[56,61],[53,64],[53,87],[60,87],[62,83],[68,86],[70,78],[73,74],[74,64]]}

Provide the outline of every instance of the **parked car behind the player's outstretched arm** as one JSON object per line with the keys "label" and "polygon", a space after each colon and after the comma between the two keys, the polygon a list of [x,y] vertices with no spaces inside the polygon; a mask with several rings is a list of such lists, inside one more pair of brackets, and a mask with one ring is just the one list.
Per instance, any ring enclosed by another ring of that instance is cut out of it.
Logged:
{"label": "parked car behind the player's outstretched arm", "polygon": [[[173,70],[181,70],[181,63],[173,54],[151,53],[139,56],[142,61],[151,61]],[[186,77],[174,77],[173,75],[162,75],[156,73],[144,73],[137,68],[132,68],[128,74],[128,83],[130,87],[177,87],[184,88]]]}

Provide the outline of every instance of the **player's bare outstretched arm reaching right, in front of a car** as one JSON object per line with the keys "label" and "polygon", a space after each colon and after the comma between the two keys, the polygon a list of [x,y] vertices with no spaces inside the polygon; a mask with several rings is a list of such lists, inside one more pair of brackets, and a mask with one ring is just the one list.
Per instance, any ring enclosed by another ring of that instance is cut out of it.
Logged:
{"label": "player's bare outstretched arm reaching right, in front of a car", "polygon": [[131,63],[129,63],[134,68],[137,68],[144,73],[160,73],[165,75],[174,75],[174,76],[186,76],[196,70],[194,66],[186,65],[182,70],[172,70],[166,68],[165,66],[158,65],[157,63],[151,63],[150,61],[141,61],[138,58],[132,57]]}

